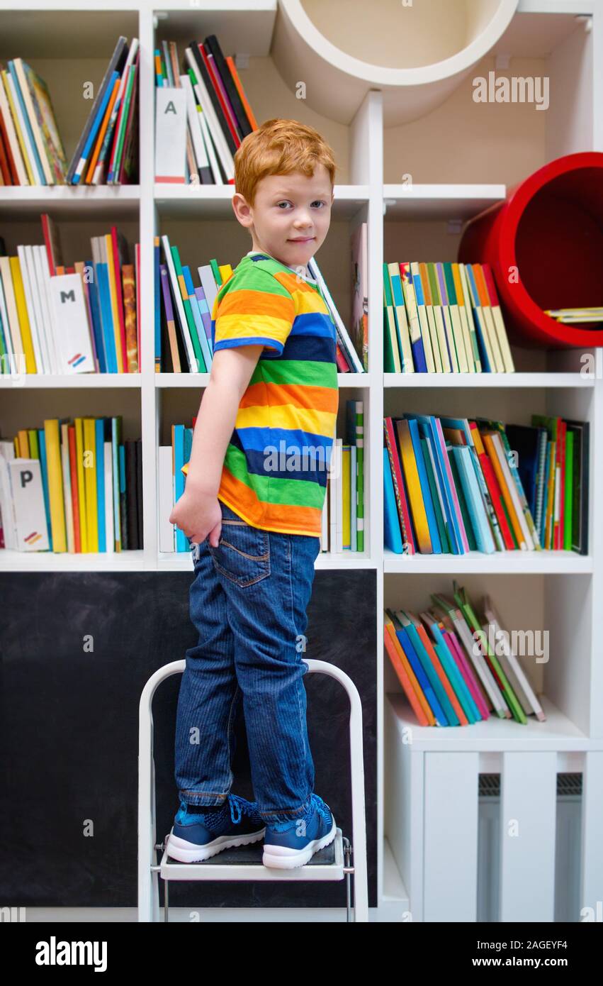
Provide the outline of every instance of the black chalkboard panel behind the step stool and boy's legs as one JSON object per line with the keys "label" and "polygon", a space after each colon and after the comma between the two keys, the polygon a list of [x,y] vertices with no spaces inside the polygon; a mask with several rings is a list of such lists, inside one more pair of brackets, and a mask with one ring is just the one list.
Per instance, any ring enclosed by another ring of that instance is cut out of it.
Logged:
{"label": "black chalkboard panel behind the step stool and boy's legs", "polygon": [[[154,670],[197,643],[193,573],[0,574],[2,899],[17,906],[132,907],[137,895],[138,704]],[[317,571],[305,657],[350,675],[364,711],[369,906],[376,906],[376,584],[371,569]],[[92,640],[93,650],[90,650]],[[87,643],[88,641],[88,643]],[[180,675],[156,692],[158,841],[177,810],[173,727]],[[315,791],[352,839],[349,703],[306,674]],[[234,793],[252,799],[239,711]],[[94,834],[86,835],[87,825]],[[160,880],[163,902],[163,881]],[[176,883],[170,907],[345,906],[337,883]]]}

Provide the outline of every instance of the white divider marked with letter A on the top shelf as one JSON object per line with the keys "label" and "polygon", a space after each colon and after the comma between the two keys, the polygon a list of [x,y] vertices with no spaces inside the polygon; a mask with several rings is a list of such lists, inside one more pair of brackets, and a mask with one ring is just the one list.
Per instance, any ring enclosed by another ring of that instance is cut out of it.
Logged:
{"label": "white divider marked with letter A on the top shelf", "polygon": [[186,92],[171,86],[155,90],[155,180],[186,180]]}

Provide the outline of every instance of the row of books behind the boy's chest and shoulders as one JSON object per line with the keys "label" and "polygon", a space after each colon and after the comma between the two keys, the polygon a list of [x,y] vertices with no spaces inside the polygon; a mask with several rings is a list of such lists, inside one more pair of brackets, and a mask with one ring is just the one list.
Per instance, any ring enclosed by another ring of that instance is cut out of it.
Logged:
{"label": "row of books behind the boy's chest and shoulders", "polygon": [[[163,257],[162,260],[162,248]],[[307,264],[335,323],[337,368],[340,373],[366,373],[364,335],[352,340],[314,258]],[[212,314],[216,295],[233,274],[230,263],[216,259],[197,267],[195,285],[190,267],[182,264],[177,246],[167,235],[155,238],[155,370],[156,373],[209,373],[213,361]],[[361,289],[362,290],[362,289]],[[364,332],[362,318],[359,332]]]}

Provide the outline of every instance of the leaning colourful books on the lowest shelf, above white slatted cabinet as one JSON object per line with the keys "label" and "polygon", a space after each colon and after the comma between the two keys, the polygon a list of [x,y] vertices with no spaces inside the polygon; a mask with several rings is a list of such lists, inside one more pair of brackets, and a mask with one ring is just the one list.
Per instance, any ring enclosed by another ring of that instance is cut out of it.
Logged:
{"label": "leaning colourful books on the lowest shelf, above white slatted cabinet", "polygon": [[[492,599],[478,620],[468,593],[454,582],[454,601],[432,594],[420,613],[384,610],[384,643],[420,726],[468,726],[496,714],[522,725],[546,716],[517,660],[513,633],[503,629]],[[545,632],[546,633],[546,632]],[[528,657],[548,660],[540,631],[520,631]]]}

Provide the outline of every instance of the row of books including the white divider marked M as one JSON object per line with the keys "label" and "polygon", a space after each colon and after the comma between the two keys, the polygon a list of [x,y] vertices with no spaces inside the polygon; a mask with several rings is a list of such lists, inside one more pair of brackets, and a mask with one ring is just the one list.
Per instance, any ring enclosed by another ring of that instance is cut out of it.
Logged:
{"label": "row of books including the white divider marked M", "polygon": [[91,237],[92,259],[65,266],[58,230],[41,217],[44,243],[7,256],[0,238],[0,372],[138,373],[140,250],[115,226]]}

